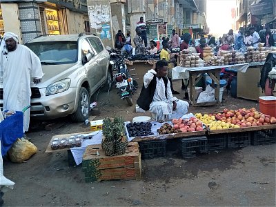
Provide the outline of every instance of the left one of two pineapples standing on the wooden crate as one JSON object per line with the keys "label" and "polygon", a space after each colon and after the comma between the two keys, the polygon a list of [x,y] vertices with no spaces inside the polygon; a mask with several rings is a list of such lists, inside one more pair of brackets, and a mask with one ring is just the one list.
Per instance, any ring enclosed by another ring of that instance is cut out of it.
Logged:
{"label": "left one of two pineapples standing on the wooden crate", "polygon": [[115,155],[115,137],[113,133],[113,122],[110,118],[103,119],[103,140],[101,148],[107,156]]}

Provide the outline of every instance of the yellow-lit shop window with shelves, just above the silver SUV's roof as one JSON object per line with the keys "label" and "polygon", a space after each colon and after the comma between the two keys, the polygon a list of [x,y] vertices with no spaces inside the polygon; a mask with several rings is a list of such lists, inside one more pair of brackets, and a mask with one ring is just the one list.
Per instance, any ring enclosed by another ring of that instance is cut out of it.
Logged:
{"label": "yellow-lit shop window with shelves, just above the silver SUV's roof", "polygon": [[46,8],[46,23],[48,28],[48,34],[60,34],[59,30],[59,18],[57,16],[57,10],[51,10]]}

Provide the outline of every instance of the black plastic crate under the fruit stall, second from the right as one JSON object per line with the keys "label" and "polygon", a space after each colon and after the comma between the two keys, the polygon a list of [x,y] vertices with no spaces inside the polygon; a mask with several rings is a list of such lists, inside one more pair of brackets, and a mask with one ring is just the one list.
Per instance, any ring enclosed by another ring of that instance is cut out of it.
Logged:
{"label": "black plastic crate under the fruit stall, second from the right", "polygon": [[228,133],[228,148],[243,148],[250,146],[251,132]]}

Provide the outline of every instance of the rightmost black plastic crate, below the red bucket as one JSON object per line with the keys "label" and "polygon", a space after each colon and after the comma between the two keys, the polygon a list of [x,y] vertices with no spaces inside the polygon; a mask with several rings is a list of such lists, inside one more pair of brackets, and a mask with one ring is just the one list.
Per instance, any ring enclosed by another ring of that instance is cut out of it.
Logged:
{"label": "rightmost black plastic crate, below the red bucket", "polygon": [[251,144],[254,146],[276,144],[276,129],[254,131]]}

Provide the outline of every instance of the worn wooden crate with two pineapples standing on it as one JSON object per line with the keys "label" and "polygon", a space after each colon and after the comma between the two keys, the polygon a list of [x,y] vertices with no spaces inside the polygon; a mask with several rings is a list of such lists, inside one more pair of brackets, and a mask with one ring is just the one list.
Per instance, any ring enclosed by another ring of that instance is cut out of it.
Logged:
{"label": "worn wooden crate with two pineapples standing on it", "polygon": [[101,145],[91,145],[83,154],[85,181],[141,179],[141,154],[137,142],[130,142],[124,155],[106,156]]}

